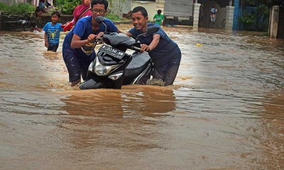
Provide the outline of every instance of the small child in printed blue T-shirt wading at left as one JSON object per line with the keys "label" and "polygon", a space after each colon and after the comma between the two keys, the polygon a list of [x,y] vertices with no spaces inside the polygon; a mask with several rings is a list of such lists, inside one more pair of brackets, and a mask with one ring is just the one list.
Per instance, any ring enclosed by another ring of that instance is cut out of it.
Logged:
{"label": "small child in printed blue T-shirt wading at left", "polygon": [[62,31],[61,23],[58,23],[60,13],[54,11],[51,14],[51,22],[46,23],[43,30],[45,31],[45,47],[48,51],[56,52],[59,45],[60,31]]}

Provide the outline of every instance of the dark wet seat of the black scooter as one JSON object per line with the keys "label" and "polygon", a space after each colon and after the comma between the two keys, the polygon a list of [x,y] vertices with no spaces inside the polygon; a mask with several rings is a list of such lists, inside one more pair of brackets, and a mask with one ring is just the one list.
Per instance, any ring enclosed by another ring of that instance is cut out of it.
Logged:
{"label": "dark wet seat of the black scooter", "polygon": [[150,56],[146,52],[136,53],[132,56],[132,60],[129,65],[126,67],[124,72],[124,77],[134,77],[148,66],[151,62]]}

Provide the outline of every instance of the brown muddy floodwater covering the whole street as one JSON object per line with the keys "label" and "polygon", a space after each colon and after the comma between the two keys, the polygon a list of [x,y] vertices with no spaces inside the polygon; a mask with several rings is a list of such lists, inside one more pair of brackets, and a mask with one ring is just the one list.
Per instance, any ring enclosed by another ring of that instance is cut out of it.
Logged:
{"label": "brown muddy floodwater covering the whole street", "polygon": [[0,169],[284,169],[283,40],[164,29],[173,86],[89,91],[68,86],[61,43],[0,32]]}

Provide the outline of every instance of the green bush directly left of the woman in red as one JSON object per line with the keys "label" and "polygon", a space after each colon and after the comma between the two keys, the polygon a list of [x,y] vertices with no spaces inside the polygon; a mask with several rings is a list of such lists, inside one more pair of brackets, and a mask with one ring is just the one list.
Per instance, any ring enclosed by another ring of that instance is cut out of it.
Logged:
{"label": "green bush directly left of the woman in red", "polygon": [[72,15],[75,7],[79,4],[82,4],[82,0],[56,0],[55,8],[62,14]]}

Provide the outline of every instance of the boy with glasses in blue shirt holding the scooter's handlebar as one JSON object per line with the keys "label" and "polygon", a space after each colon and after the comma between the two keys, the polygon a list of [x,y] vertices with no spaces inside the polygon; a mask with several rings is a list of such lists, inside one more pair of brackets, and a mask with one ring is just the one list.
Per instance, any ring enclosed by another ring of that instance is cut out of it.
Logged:
{"label": "boy with glasses in blue shirt holding the scooter's handlebar", "polygon": [[97,16],[107,13],[107,0],[92,0],[92,16],[86,16],[65,36],[62,56],[69,73],[70,86],[76,86],[82,79],[87,79],[89,64],[96,55],[94,40],[106,30],[108,33],[121,33],[112,21],[104,18],[104,24],[96,21]]}

